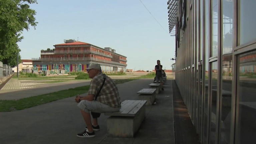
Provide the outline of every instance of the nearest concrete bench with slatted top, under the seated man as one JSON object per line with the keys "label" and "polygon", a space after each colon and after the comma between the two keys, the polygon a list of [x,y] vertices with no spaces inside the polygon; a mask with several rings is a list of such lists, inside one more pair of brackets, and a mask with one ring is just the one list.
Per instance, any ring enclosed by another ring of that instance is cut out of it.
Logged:
{"label": "nearest concrete bench with slatted top, under the seated man", "polygon": [[107,136],[134,137],[146,116],[146,100],[125,100],[118,112],[107,112]]}

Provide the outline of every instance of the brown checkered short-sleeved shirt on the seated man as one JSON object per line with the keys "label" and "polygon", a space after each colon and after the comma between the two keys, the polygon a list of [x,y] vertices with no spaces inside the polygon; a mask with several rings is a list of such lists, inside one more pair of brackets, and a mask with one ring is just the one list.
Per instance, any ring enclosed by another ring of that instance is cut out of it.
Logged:
{"label": "brown checkered short-sleeved shirt on the seated man", "polygon": [[101,72],[92,79],[88,94],[94,95],[95,99],[95,96],[103,83],[104,77],[106,77],[106,80],[99,96],[97,97],[97,101],[107,104],[113,108],[120,108],[121,102],[116,84],[110,77]]}

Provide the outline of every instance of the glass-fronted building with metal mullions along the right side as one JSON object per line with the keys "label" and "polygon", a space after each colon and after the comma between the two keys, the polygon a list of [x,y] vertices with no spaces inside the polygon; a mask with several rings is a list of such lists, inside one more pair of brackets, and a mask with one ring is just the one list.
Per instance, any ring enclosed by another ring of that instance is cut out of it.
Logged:
{"label": "glass-fronted building with metal mullions along the right side", "polygon": [[167,4],[175,80],[200,142],[255,143],[256,1]]}

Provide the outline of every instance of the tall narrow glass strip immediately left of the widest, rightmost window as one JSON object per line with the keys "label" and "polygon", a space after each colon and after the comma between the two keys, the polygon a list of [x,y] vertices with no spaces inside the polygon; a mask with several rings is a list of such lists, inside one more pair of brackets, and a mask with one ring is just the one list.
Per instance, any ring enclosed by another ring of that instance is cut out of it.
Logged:
{"label": "tall narrow glass strip immediately left of the widest, rightmost window", "polygon": [[222,1],[222,92],[220,143],[230,142],[231,90],[232,90],[232,52],[233,52],[233,1]]}

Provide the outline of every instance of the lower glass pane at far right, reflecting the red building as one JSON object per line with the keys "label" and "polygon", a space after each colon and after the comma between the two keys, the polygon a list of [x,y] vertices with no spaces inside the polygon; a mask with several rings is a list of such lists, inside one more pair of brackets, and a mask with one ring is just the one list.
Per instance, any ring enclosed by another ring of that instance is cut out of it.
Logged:
{"label": "lower glass pane at far right, reflecting the red building", "polygon": [[256,141],[256,51],[239,56],[238,143]]}

